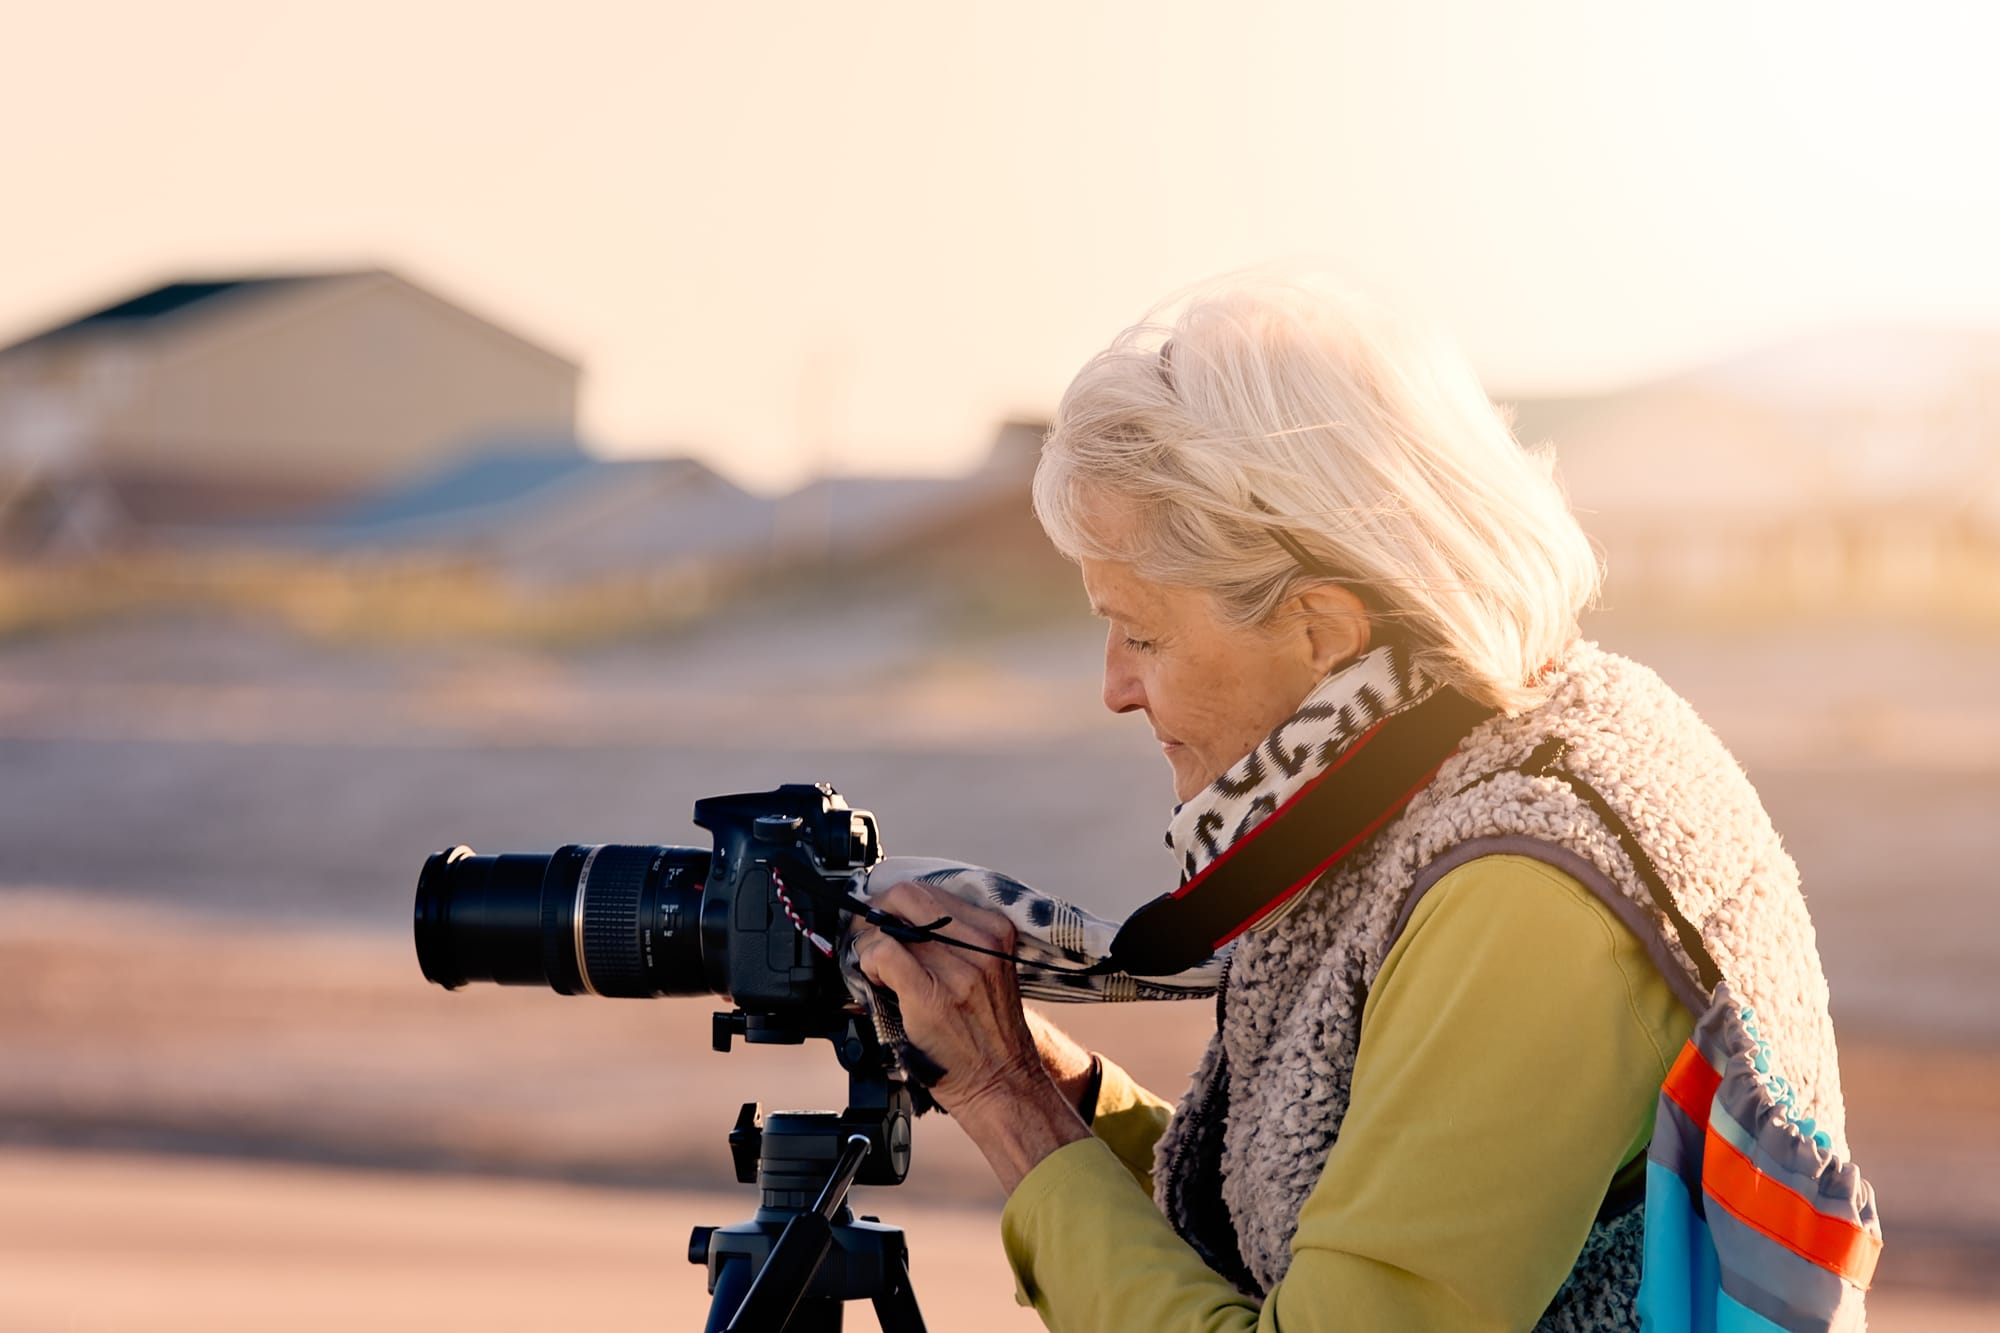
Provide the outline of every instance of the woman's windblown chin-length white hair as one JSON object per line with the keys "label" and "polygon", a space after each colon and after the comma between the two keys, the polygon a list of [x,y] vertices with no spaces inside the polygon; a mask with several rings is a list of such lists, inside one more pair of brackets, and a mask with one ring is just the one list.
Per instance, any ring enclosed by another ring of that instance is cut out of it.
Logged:
{"label": "woman's windblown chin-length white hair", "polygon": [[[1092,522],[1106,500],[1134,516],[1116,540]],[[1508,711],[1540,697],[1600,580],[1552,452],[1514,440],[1456,352],[1274,278],[1180,298],[1094,356],[1034,512],[1064,556],[1204,588],[1234,624],[1270,622],[1302,580],[1346,584],[1376,634]]]}

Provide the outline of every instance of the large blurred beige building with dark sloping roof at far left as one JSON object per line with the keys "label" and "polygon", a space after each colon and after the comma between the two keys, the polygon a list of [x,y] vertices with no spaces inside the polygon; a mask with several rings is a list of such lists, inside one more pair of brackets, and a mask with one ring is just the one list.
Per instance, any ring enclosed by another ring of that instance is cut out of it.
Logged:
{"label": "large blurred beige building with dark sloping roof at far left", "polygon": [[578,366],[392,272],[168,282],[0,348],[0,526],[298,512],[574,432]]}

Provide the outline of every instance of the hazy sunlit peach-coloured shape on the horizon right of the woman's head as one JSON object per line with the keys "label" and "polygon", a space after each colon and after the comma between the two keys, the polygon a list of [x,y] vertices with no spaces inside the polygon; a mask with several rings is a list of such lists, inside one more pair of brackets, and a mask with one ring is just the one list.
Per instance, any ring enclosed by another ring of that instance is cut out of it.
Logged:
{"label": "hazy sunlit peach-coloured shape on the horizon right of the woman's head", "polygon": [[1514,422],[1618,608],[2000,616],[2000,332],[1826,332]]}

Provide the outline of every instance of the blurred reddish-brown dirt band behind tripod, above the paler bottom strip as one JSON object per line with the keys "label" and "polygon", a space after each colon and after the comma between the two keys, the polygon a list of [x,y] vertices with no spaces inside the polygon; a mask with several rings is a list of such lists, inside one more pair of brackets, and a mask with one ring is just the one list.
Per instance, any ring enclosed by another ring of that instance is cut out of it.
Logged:
{"label": "blurred reddish-brown dirt band behind tripod, above the paler bottom strip", "polygon": [[[710,997],[446,993],[382,933],[0,893],[0,977],[6,1139],[190,1153],[196,1175],[234,1155],[726,1193],[740,1103],[846,1101],[820,1045],[714,1053]],[[1204,1003],[1050,1013],[1164,1095],[1212,1027]],[[1890,1233],[1882,1279],[2000,1299],[2000,1053],[1856,1037],[1842,1071]],[[898,1211],[1000,1205],[948,1119],[918,1123],[914,1157]]]}

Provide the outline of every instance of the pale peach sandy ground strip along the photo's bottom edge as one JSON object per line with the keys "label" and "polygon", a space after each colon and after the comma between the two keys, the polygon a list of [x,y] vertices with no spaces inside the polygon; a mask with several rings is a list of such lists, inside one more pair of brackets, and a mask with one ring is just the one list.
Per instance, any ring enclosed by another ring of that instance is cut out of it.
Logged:
{"label": "pale peach sandy ground strip along the photo's bottom edge", "polygon": [[[634,1193],[0,1149],[0,1327],[12,1333],[700,1329],[696,1225],[742,1193]],[[990,1209],[862,1203],[904,1229],[928,1327],[1028,1333]],[[2000,1301],[1882,1287],[1874,1333],[1984,1333]],[[850,1329],[874,1329],[850,1307]]]}

